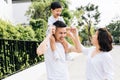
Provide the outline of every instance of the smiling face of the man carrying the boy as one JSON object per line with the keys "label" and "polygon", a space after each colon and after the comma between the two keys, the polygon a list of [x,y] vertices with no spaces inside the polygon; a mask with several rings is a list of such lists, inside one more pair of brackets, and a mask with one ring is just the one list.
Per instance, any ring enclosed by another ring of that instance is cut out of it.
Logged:
{"label": "smiling face of the man carrying the boy", "polygon": [[62,42],[66,37],[66,27],[64,28],[56,28],[55,38],[57,42]]}

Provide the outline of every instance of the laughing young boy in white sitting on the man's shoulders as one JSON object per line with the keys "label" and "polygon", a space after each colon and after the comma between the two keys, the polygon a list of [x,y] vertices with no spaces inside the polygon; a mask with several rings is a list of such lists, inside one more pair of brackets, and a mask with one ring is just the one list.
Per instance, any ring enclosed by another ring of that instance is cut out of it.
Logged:
{"label": "laughing young boy in white sitting on the man's shoulders", "polygon": [[[51,3],[51,12],[52,12],[52,15],[48,18],[48,29],[47,29],[47,32],[46,32],[46,35],[48,35],[50,32],[49,32],[49,28],[50,27],[54,27],[53,26],[53,23],[56,22],[56,21],[62,21],[65,23],[63,17],[61,17],[61,12],[62,12],[62,6],[60,4],[60,2],[52,2]],[[54,36],[52,36],[54,37]],[[51,49],[52,51],[54,52],[55,49],[56,49],[56,46],[54,45],[55,43],[55,40],[54,38],[50,40],[50,45],[51,45]],[[66,40],[64,41],[64,44],[63,44],[64,48],[65,48],[65,53],[67,53],[67,44],[66,44]],[[58,54],[54,54],[54,57],[56,59],[58,59]],[[69,54],[66,54],[66,59],[67,60],[72,60],[71,56]]]}

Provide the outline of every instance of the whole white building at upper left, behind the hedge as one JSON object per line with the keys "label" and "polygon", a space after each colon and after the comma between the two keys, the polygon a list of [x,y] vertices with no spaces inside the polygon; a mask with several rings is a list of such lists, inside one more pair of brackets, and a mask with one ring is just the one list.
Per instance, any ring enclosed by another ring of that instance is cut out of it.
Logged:
{"label": "whole white building at upper left, behind the hedge", "polygon": [[0,18],[14,24],[26,24],[29,20],[25,13],[30,4],[30,0],[0,0]]}

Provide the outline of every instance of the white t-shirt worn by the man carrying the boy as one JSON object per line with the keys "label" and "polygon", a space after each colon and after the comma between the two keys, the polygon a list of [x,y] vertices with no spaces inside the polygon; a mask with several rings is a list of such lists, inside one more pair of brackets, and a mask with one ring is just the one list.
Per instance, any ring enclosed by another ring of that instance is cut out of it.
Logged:
{"label": "white t-shirt worn by the man carrying the boy", "polygon": [[[54,53],[57,53],[60,58],[55,59]],[[48,80],[69,80],[65,51],[61,43],[56,43],[56,50],[54,53],[49,43],[48,49],[44,54]]]}

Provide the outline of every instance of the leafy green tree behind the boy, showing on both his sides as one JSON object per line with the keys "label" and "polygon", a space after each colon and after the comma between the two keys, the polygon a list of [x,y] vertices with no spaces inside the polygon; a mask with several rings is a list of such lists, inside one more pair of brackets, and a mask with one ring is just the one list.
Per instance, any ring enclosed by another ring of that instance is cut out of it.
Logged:
{"label": "leafy green tree behind the boy, showing on both his sides", "polygon": [[[44,19],[47,22],[48,17],[51,15],[50,4],[53,1],[59,1],[63,6],[62,16],[70,18],[71,15],[68,10],[69,2],[67,0],[32,0],[32,4],[27,10],[26,15],[32,19]],[[65,14],[68,15],[66,16]]]}

